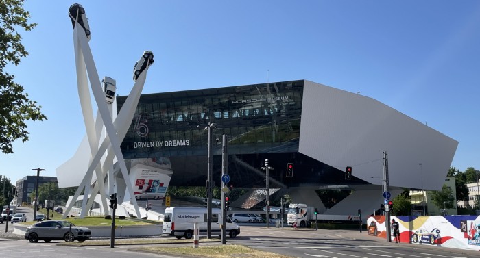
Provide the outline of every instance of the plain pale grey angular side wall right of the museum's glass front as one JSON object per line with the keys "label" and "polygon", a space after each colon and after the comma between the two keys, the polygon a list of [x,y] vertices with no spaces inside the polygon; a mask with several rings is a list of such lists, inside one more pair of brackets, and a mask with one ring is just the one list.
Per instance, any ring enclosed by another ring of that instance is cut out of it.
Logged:
{"label": "plain pale grey angular side wall right of the museum's glass front", "polygon": [[[441,190],[458,142],[369,97],[305,81],[299,152],[381,185]],[[420,165],[421,164],[421,165]]]}

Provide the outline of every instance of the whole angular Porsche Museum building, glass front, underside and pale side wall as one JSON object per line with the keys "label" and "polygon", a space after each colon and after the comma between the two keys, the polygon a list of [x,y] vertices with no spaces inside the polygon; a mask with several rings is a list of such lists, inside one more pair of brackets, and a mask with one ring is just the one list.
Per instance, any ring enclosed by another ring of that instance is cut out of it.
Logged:
{"label": "whole angular Porsche Museum building, glass front, underside and pale side wall", "polygon": [[[117,109],[125,99],[117,97]],[[323,214],[354,214],[379,209],[385,168],[392,196],[402,188],[440,190],[458,145],[368,96],[298,80],[143,94],[121,144],[123,157],[167,165],[170,186],[206,185],[211,123],[214,184],[221,185],[226,135],[229,184],[249,190],[232,207],[244,209],[265,205],[265,159],[274,168],[272,198],[289,194]],[[315,190],[351,194],[327,209]]]}

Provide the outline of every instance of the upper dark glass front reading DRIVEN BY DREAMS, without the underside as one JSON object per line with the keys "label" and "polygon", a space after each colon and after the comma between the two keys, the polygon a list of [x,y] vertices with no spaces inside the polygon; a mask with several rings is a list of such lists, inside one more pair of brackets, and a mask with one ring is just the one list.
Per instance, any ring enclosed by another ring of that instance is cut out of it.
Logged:
{"label": "upper dark glass front reading DRIVEN BY DREAMS, without the underside", "polygon": [[209,123],[213,142],[227,136],[229,155],[297,152],[302,92],[303,81],[287,81],[142,95],[123,157],[206,155]]}

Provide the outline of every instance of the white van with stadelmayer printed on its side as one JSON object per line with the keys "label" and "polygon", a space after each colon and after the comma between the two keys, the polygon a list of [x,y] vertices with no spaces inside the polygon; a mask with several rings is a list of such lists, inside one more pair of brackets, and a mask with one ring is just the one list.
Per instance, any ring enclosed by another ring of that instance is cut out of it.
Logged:
{"label": "white van with stadelmayer printed on its side", "polygon": [[[177,239],[193,236],[193,224],[197,223],[200,235],[206,235],[208,228],[208,209],[202,207],[168,207],[163,215],[163,235],[174,235]],[[221,212],[212,209],[212,235],[221,235]],[[232,223],[227,217],[226,233],[235,238],[240,233],[239,225]]]}

